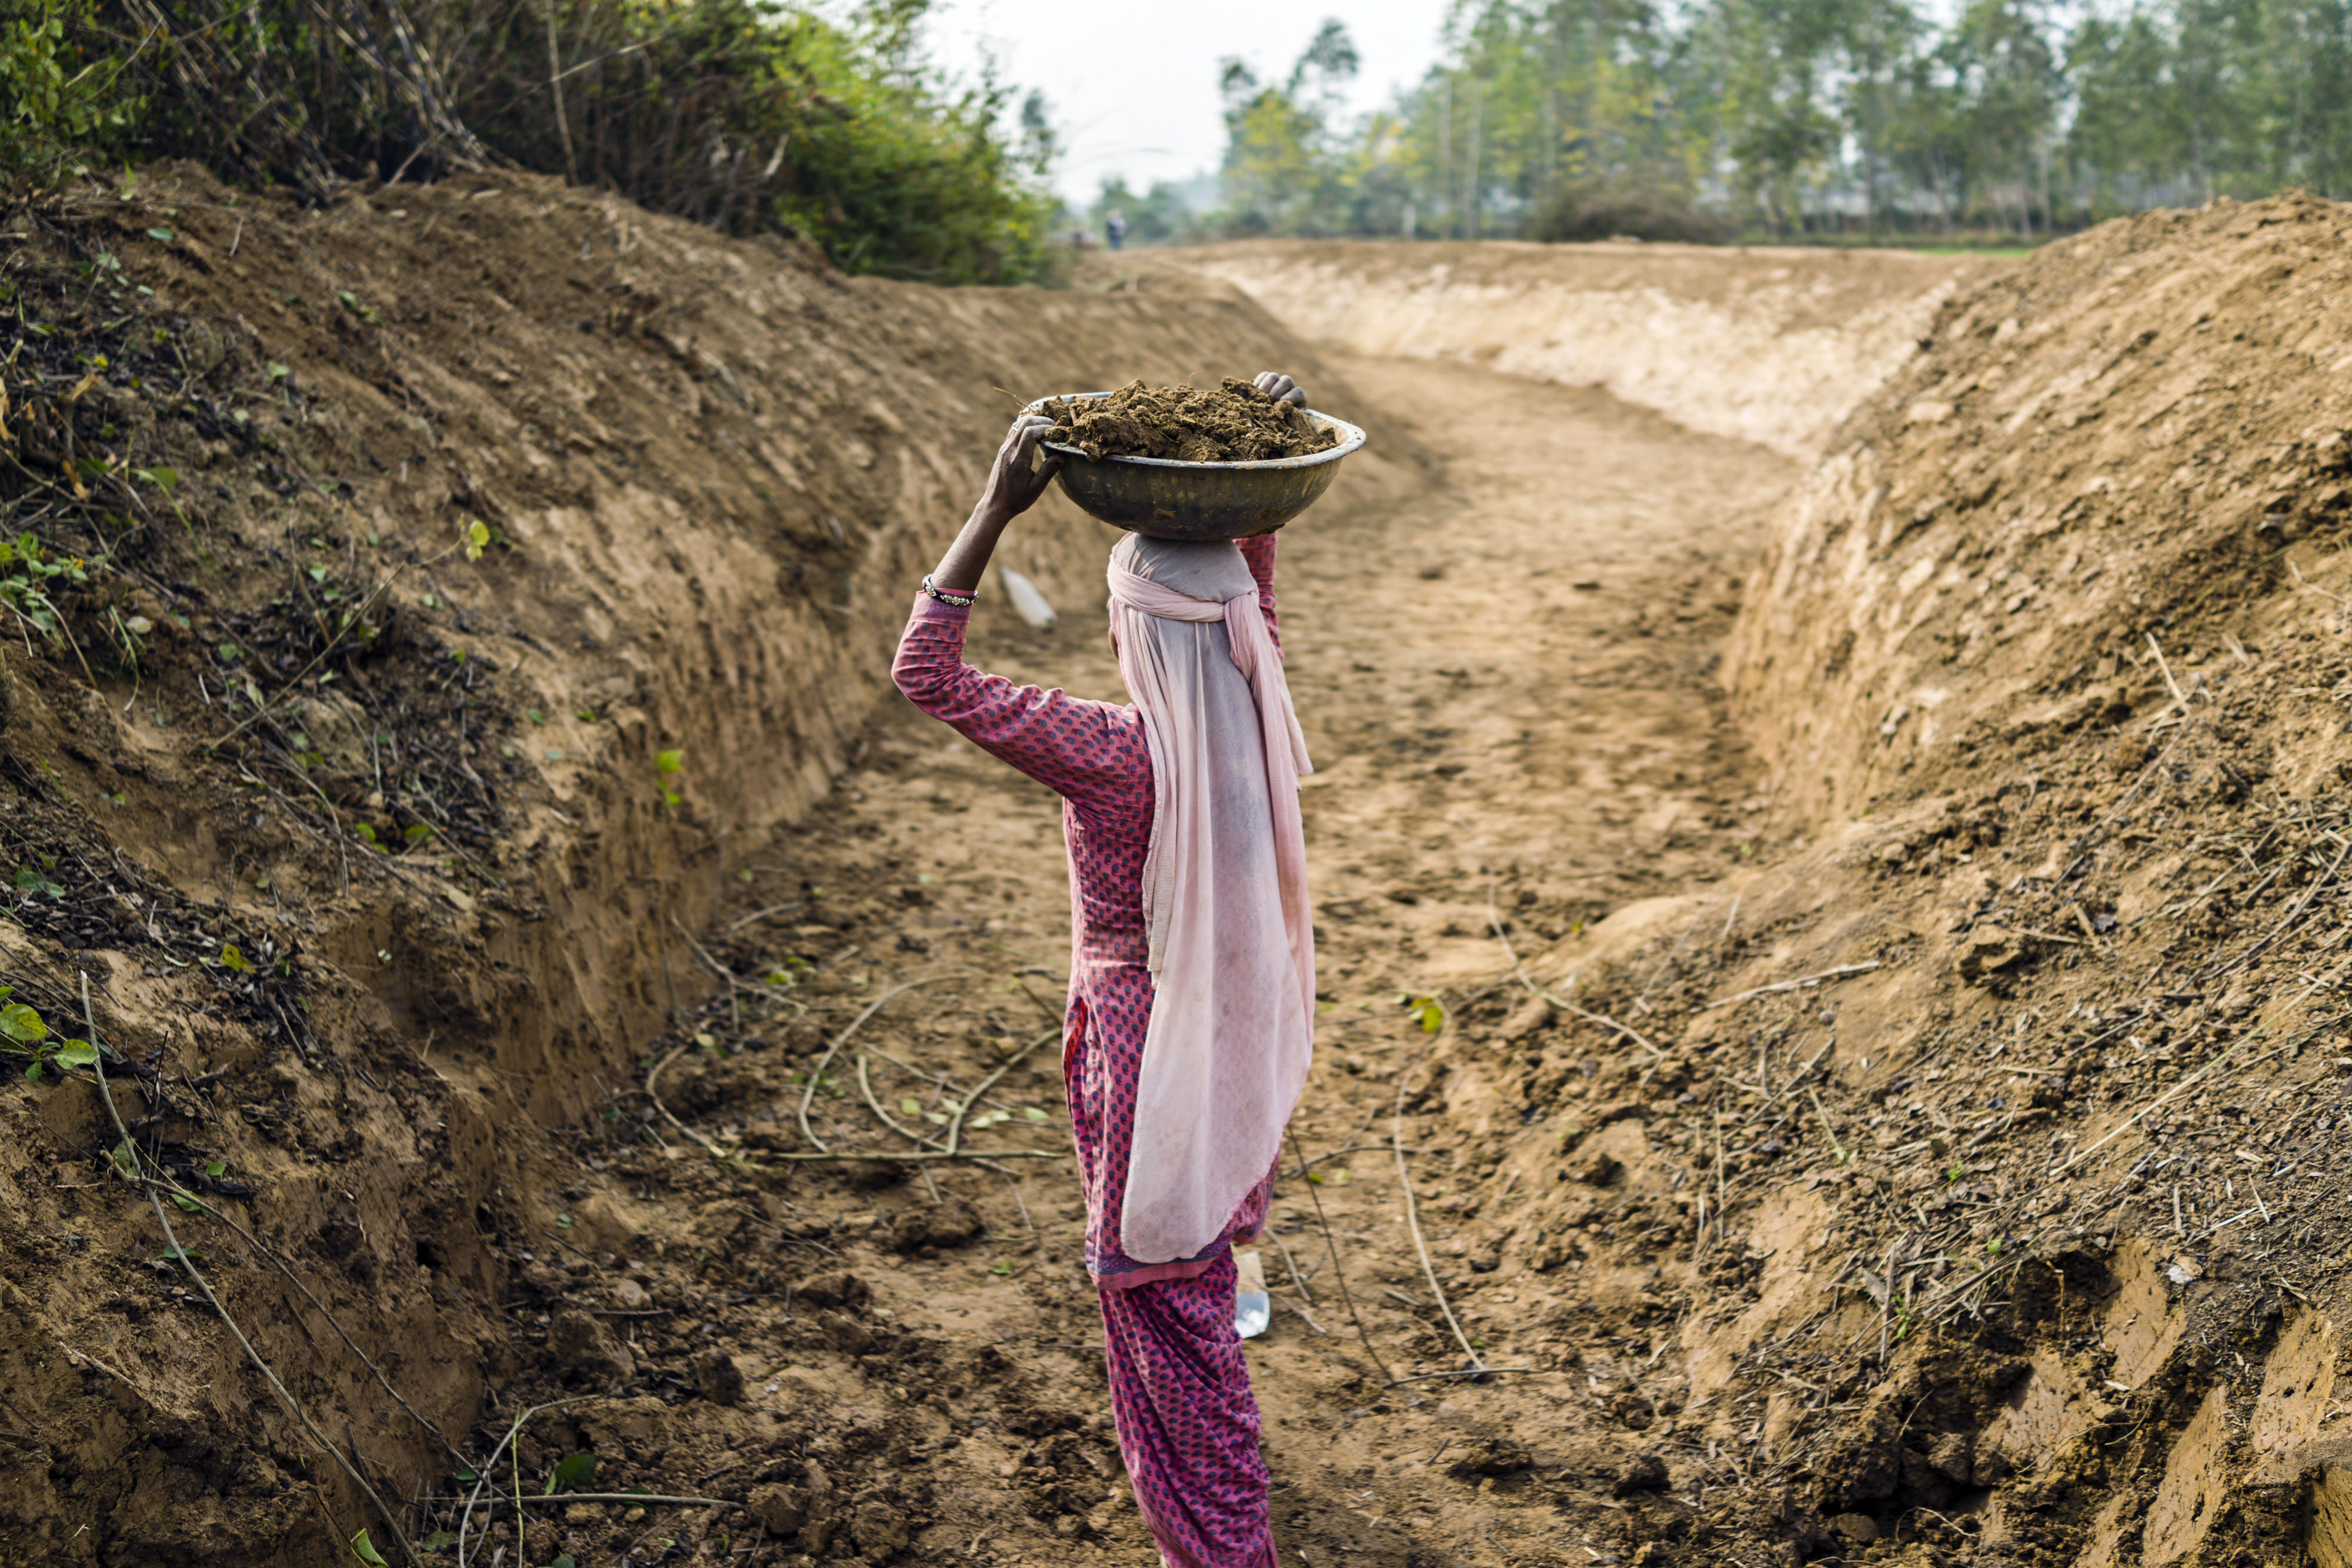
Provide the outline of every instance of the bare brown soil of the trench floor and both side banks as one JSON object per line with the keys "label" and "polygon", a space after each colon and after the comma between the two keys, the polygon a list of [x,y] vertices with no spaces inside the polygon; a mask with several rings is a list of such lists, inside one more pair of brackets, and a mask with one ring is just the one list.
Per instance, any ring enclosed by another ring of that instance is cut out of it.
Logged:
{"label": "bare brown soil of the trench floor and both side banks", "polygon": [[[938,294],[172,172],[9,226],[0,983],[66,1037],[92,976],[139,1159],[89,1067],[9,1091],[0,1561],[1155,1561],[1056,806],[873,696],[985,388],[1235,364],[1376,437],[1282,545],[1284,1561],[2343,1561],[2340,209],[1929,299],[1811,465],[1317,353],[1230,249]],[[1117,698],[1108,541],[1016,524],[1075,623],[974,658]]]}

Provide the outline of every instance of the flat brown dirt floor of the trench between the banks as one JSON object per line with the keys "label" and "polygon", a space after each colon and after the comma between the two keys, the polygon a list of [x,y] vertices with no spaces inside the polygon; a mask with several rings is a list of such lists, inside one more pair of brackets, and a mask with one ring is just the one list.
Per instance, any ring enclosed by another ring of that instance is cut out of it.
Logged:
{"label": "flat brown dirt floor of the trench between the banks", "polygon": [[[1588,1399],[1592,1356],[1573,1375],[1383,1392],[1334,1295],[1312,1197],[1390,1371],[1461,1366],[1392,1157],[1376,1147],[1397,1079],[1425,1046],[1397,999],[1491,985],[1491,889],[1515,926],[1557,933],[1733,863],[1743,773],[1710,670],[1736,564],[1792,468],[1602,393],[1465,367],[1345,369],[1376,404],[1376,428],[1397,430],[1395,411],[1421,409],[1411,435],[1449,456],[1451,482],[1416,515],[1319,512],[1282,557],[1291,682],[1319,766],[1308,832],[1324,1027],[1296,1131],[1329,1159],[1322,1185],[1279,1194],[1268,1262],[1287,1288],[1251,1356],[1277,1530],[1317,1568],[1606,1547],[1609,1479],[1630,1429],[1611,1415],[1613,1387]],[[1122,696],[1091,604],[1065,604],[1061,628],[1037,635],[990,602],[971,656],[1016,679]],[[1068,884],[1056,802],[891,705],[788,863],[755,858],[703,947],[739,976],[783,966],[795,980],[786,1001],[769,983],[706,1004],[701,1027],[731,1056],[673,1067],[661,1086],[670,1110],[753,1159],[800,1147],[804,1074],[884,985],[920,978],[922,990],[884,1004],[823,1060],[811,1098],[811,1126],[835,1147],[908,1147],[880,1131],[863,1088],[901,1126],[934,1131],[927,1114],[946,1114],[943,1100],[1042,1041],[1058,1016]],[[1004,1119],[967,1147],[1054,1150],[1065,1138],[1051,1048],[1007,1072],[978,1107],[990,1112]],[[668,1124],[654,1131],[680,1143]],[[936,1187],[903,1168],[739,1178],[687,1159],[691,1150],[663,1161],[600,1133],[579,1182],[550,1194],[569,1204],[579,1246],[564,1251],[579,1262],[541,1288],[550,1302],[609,1295],[619,1309],[673,1316],[557,1321],[543,1366],[621,1328],[640,1378],[691,1356],[673,1378],[708,1387],[703,1361],[717,1349],[750,1385],[717,1413],[689,1401],[670,1418],[633,1401],[652,1422],[635,1434],[626,1415],[590,1413],[532,1458],[588,1443],[619,1465],[616,1479],[673,1490],[736,1469],[764,1483],[750,1495],[767,1500],[769,1533],[800,1530],[809,1549],[1023,1561],[1075,1540],[1101,1561],[1150,1561],[1110,1462],[1068,1166],[953,1168],[929,1178]],[[1416,1182],[1454,1276],[1468,1215],[1449,1204],[1444,1161],[1423,1159]],[[1284,1248],[1312,1300],[1289,1288]],[[1583,1321],[1578,1342],[1632,1345],[1656,1373],[1656,1347],[1635,1338],[1649,1309],[1642,1279],[1503,1276],[1491,1262],[1479,1274],[1479,1262],[1468,1276],[1477,1291],[1463,1286],[1456,1307],[1491,1361],[1557,1368],[1562,1326]],[[797,1295],[779,1300],[795,1274]],[[539,1338],[532,1316],[527,1340]],[[579,1387],[576,1371],[557,1378]],[[595,1507],[581,1507],[588,1528]],[[614,1533],[607,1549],[642,1528]],[[593,1530],[546,1530],[534,1552],[597,1542]]]}

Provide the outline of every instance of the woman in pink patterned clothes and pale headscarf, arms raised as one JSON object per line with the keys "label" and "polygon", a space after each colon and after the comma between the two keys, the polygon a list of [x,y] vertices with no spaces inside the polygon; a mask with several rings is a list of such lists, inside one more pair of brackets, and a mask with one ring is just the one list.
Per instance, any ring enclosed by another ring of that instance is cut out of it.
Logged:
{"label": "woman in pink patterned clothes and pale headscarf, arms raised", "polygon": [[[1258,376],[1289,402],[1289,376]],[[964,531],[924,578],[896,682],[1063,799],[1070,1011],[1063,1077],[1103,1305],[1110,1406],[1136,1505],[1176,1568],[1275,1568],[1258,1406],[1232,1324],[1232,1244],[1256,1239],[1315,1027],[1298,776],[1272,536],[1110,552],[1131,708],[964,663],[971,592],[1051,421],[1004,437]]]}

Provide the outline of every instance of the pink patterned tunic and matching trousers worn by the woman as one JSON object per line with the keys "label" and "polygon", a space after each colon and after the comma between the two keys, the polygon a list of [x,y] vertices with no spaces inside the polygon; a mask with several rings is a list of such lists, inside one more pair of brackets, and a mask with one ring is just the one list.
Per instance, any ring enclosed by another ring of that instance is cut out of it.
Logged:
{"label": "pink patterned tunic and matching trousers worn by the woman", "polygon": [[[1242,541],[1242,555],[1279,646],[1272,536]],[[1272,1173],[1197,1258],[1141,1265],[1117,1246],[1152,1016],[1143,933],[1152,759],[1143,722],[1134,708],[974,670],[964,663],[967,621],[967,611],[917,595],[891,675],[910,703],[1063,802],[1070,1013],[1061,1060],[1087,1197],[1087,1269],[1101,1288],[1110,1408],[1136,1505],[1176,1568],[1275,1568],[1258,1406],[1232,1331],[1228,1246],[1265,1222]]]}

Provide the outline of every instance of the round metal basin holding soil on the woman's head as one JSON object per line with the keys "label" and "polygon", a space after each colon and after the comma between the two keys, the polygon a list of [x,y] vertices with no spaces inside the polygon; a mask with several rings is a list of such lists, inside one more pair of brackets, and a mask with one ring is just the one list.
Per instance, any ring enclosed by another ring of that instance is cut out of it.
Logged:
{"label": "round metal basin holding soil on the woman's head", "polygon": [[[1065,393],[1070,400],[1110,393]],[[1025,411],[1042,414],[1051,397]],[[1080,510],[1148,538],[1251,538],[1272,534],[1331,489],[1338,461],[1364,444],[1364,433],[1343,418],[1301,409],[1319,428],[1338,433],[1338,444],[1303,458],[1263,463],[1178,463],[1176,458],[1089,458],[1077,447],[1044,442],[1061,458],[1061,494]]]}

